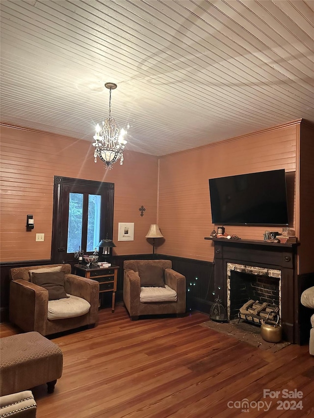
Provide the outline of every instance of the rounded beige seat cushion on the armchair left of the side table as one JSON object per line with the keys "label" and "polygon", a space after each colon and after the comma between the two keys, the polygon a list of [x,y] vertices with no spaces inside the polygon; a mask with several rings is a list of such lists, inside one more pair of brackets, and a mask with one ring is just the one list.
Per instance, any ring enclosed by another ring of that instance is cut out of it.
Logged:
{"label": "rounded beige seat cushion on the armchair left of the side table", "polygon": [[90,303],[81,297],[69,295],[68,298],[49,300],[48,319],[61,320],[65,318],[80,317],[87,314],[90,309]]}

